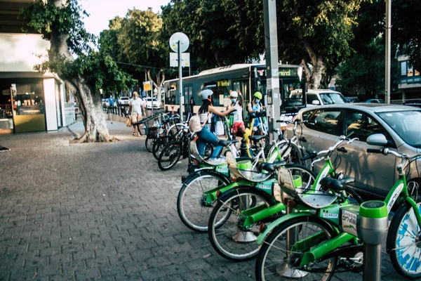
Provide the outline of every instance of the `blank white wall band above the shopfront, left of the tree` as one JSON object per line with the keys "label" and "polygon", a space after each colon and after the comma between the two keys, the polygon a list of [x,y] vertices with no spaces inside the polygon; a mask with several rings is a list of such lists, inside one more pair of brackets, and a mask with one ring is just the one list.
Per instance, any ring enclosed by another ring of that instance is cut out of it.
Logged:
{"label": "blank white wall band above the shopfront, left of the tree", "polygon": [[[46,60],[50,42],[41,34],[0,33],[0,72],[34,71],[34,65]],[[36,55],[44,55],[37,58]]]}

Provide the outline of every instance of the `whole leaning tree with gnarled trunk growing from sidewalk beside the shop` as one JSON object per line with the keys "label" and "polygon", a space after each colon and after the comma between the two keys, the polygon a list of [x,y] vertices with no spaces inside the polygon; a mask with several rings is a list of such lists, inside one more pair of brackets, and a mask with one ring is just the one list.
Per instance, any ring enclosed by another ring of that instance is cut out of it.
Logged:
{"label": "whole leaning tree with gnarled trunk growing from sidewalk beside the shop", "polygon": [[76,0],[32,2],[20,13],[27,20],[24,31],[32,28],[51,41],[48,61],[37,69],[57,73],[65,81],[67,91],[74,93],[85,125],[85,133],[78,141],[110,141],[98,90],[124,88],[133,80],[119,70],[109,55],[91,50],[89,42],[94,37],[84,29],[81,15],[87,14]]}

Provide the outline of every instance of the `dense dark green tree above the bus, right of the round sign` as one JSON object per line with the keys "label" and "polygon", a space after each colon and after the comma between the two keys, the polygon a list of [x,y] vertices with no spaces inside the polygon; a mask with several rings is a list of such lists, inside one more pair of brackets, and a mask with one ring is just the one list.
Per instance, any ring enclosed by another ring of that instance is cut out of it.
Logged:
{"label": "dense dark green tree above the bus, right of the round sign", "polygon": [[251,57],[262,53],[261,49],[256,52],[255,46],[262,45],[253,41],[254,36],[239,41],[238,35],[241,32],[254,34],[255,28],[260,27],[250,25],[253,21],[246,25],[247,6],[236,7],[241,15],[233,15],[229,9],[235,5],[227,0],[172,0],[162,7],[163,37],[168,41],[175,32],[187,34],[192,67],[195,68],[250,61]]}

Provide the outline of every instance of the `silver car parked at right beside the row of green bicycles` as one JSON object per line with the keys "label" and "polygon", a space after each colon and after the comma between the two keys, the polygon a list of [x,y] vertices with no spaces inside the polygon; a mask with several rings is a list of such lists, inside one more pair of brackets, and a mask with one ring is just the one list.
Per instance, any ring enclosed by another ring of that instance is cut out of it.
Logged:
{"label": "silver car parked at right beside the row of green bicycles", "polygon": [[[308,152],[325,150],[338,141],[340,135],[359,138],[338,149],[338,157],[332,157],[336,171],[355,178],[352,185],[366,198],[383,199],[398,176],[396,165],[400,159],[392,155],[368,153],[366,139],[373,133],[386,136],[387,148],[413,155],[421,150],[421,109],[406,105],[379,103],[352,103],[305,108],[298,112],[300,120],[307,120],[297,129],[302,145]],[[286,137],[292,136],[292,125],[286,129]],[[323,162],[315,164],[315,171]],[[406,178],[417,188],[420,183],[421,161],[413,161],[406,167]]]}

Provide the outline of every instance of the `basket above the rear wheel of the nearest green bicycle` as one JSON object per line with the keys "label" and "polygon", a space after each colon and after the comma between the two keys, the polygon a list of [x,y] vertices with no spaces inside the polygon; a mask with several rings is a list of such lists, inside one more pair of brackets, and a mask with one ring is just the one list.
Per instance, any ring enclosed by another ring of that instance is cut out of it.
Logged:
{"label": "basket above the rear wheel of the nearest green bicycle", "polygon": [[336,195],[324,190],[304,190],[300,175],[292,175],[290,170],[280,167],[278,170],[278,182],[282,190],[282,200],[285,197],[292,198],[295,202],[300,202],[314,209],[328,207],[335,202]]}

